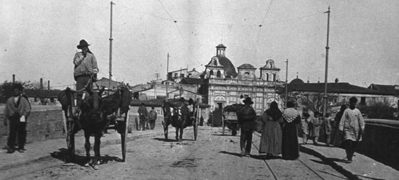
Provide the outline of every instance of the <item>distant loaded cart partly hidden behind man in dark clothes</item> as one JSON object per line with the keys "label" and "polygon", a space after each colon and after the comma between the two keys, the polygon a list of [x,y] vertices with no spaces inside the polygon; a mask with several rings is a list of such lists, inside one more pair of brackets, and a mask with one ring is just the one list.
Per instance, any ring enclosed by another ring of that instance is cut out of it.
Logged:
{"label": "distant loaded cart partly hidden behind man in dark clothes", "polygon": [[231,130],[231,135],[237,135],[237,130],[239,130],[237,111],[238,108],[241,108],[242,106],[242,104],[235,103],[223,108],[223,135],[226,126]]}

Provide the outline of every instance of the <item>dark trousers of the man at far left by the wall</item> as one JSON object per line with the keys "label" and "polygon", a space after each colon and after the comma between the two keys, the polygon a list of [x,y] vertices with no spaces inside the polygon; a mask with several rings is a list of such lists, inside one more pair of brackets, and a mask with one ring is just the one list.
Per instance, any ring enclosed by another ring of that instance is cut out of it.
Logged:
{"label": "dark trousers of the man at far left by the wall", "polygon": [[7,145],[13,148],[18,135],[18,149],[23,149],[26,142],[26,122],[21,123],[19,118],[9,118],[10,132],[8,135]]}

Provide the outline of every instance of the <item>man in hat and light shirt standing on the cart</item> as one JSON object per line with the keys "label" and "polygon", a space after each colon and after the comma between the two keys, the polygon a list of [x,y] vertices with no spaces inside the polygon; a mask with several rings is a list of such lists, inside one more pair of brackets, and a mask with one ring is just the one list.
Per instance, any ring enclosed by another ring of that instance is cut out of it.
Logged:
{"label": "man in hat and light shirt standing on the cart", "polygon": [[[86,88],[91,89],[93,80],[97,79],[98,67],[96,57],[93,55],[88,49],[89,44],[86,40],[81,40],[77,48],[81,50],[81,52],[76,52],[74,56],[74,79],[76,81],[76,90],[81,90],[85,86]],[[75,113],[79,113],[80,104],[83,98],[83,91],[77,91],[76,95],[76,111]]]}

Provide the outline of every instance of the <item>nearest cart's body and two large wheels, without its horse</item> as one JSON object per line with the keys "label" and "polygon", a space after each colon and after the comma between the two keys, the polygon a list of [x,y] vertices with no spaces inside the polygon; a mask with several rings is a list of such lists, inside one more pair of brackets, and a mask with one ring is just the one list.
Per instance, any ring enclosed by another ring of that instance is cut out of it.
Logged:
{"label": "nearest cart's body and two large wheels, without its horse", "polygon": [[[98,90],[92,90],[94,94],[98,94]],[[117,90],[107,90],[110,93],[115,93]],[[125,90],[129,91],[129,90]],[[64,131],[67,133],[67,147],[68,147],[68,155],[71,162],[74,161],[75,157],[75,134],[81,130],[81,118],[78,115],[74,114],[76,110],[76,106],[74,106],[74,102],[76,101],[76,94],[78,91],[74,91],[69,89],[69,87],[62,91],[59,94],[59,100],[62,103],[62,111],[63,111],[63,123],[64,123]],[[130,95],[130,94],[129,94]],[[109,95],[110,96],[110,95]],[[99,98],[99,97],[98,97]],[[131,99],[131,98],[130,98]],[[107,103],[107,102],[105,102]],[[66,106],[65,106],[66,105]],[[106,125],[103,130],[114,129],[117,130],[117,133],[120,133],[120,142],[122,147],[122,161],[126,161],[126,138],[127,138],[127,130],[129,123],[129,111],[122,112],[121,108],[117,108],[117,111],[108,114],[108,116],[104,117],[106,119]]]}

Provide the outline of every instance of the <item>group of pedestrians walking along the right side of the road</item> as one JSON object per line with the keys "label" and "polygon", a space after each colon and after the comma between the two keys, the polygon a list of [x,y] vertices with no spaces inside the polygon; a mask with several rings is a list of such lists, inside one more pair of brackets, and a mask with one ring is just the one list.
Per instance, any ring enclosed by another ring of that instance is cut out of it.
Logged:
{"label": "group of pedestrians walking along the right side of the road", "polygon": [[[252,134],[255,130],[257,116],[255,110],[251,107],[253,101],[250,97],[247,97],[243,103],[245,106],[237,112],[238,123],[241,124],[240,150],[241,156],[250,156]],[[296,111],[295,103],[292,101],[287,102],[287,108],[284,111],[280,111],[277,102],[273,101],[270,103],[270,108],[260,116],[260,132],[262,135],[259,153],[266,154],[266,159],[277,154],[282,154],[282,159],[298,159],[297,125],[301,124],[303,144],[306,144],[308,137],[312,136],[313,143],[318,145],[320,128],[323,128],[327,145],[333,144],[345,148],[346,162],[350,163],[357,143],[362,140],[364,134],[364,118],[356,105],[357,99],[352,97],[349,99],[349,108],[343,105],[335,117],[326,113],[325,117],[322,118],[320,117],[322,115],[318,112],[313,115],[305,112],[301,116]]]}

